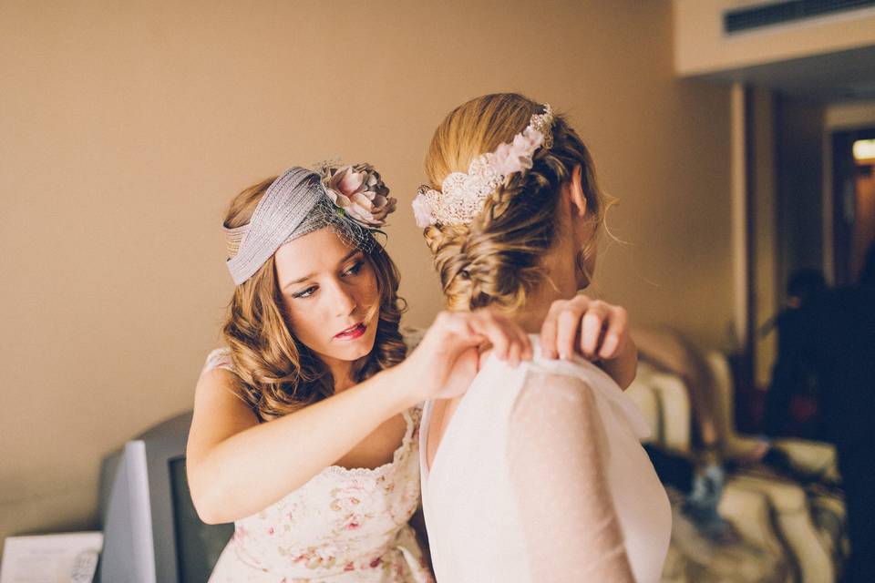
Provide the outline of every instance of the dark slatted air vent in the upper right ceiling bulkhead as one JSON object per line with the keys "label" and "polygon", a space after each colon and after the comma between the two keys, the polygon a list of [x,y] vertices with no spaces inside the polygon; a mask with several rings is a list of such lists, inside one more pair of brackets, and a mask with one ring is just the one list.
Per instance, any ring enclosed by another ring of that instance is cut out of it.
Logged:
{"label": "dark slatted air vent in the upper right ceiling bulkhead", "polygon": [[723,29],[731,35],[870,6],[875,6],[875,0],[785,0],[727,10],[723,15]]}

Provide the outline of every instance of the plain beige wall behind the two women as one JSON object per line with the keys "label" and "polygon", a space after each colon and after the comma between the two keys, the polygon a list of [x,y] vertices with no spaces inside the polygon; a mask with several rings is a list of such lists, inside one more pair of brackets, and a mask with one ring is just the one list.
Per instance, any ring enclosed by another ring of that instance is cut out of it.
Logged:
{"label": "plain beige wall behind the two women", "polygon": [[599,291],[711,346],[731,320],[728,93],[674,80],[671,5],[0,4],[0,537],[89,527],[98,462],[190,407],[239,189],[367,159],[401,200],[408,322],[439,307],[408,212],[431,131],[520,90],[623,199]]}

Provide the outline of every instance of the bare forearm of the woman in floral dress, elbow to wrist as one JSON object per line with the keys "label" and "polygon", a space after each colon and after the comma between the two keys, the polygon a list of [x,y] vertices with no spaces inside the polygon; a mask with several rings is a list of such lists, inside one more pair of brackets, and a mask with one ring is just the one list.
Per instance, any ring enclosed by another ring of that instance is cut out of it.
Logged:
{"label": "bare forearm of the woman in floral dress, elbow to wrist", "polygon": [[398,369],[245,429],[190,462],[190,489],[201,518],[232,522],[272,505],[415,404]]}

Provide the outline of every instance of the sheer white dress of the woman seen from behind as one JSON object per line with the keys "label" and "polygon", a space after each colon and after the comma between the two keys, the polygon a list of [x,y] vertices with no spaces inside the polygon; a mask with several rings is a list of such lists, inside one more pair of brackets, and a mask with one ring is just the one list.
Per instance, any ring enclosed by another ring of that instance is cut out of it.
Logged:
{"label": "sheer white dress of the woman seen from behind", "polygon": [[438,583],[659,581],[671,507],[643,415],[597,366],[543,359],[531,338],[535,358],[517,368],[489,357],[433,467],[421,456]]}

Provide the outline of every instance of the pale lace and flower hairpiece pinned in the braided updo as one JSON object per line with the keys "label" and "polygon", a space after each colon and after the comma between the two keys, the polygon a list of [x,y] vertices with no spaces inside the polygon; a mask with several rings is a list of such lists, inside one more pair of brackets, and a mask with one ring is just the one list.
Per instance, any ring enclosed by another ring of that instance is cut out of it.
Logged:
{"label": "pale lace and flower hairpiece pinned in the braided updo", "polygon": [[544,112],[533,115],[513,141],[471,160],[468,174],[453,172],[444,179],[440,190],[419,187],[417,198],[413,199],[417,226],[424,229],[435,224],[469,224],[508,176],[530,169],[535,150],[553,145],[553,110],[547,103],[543,107]]}

